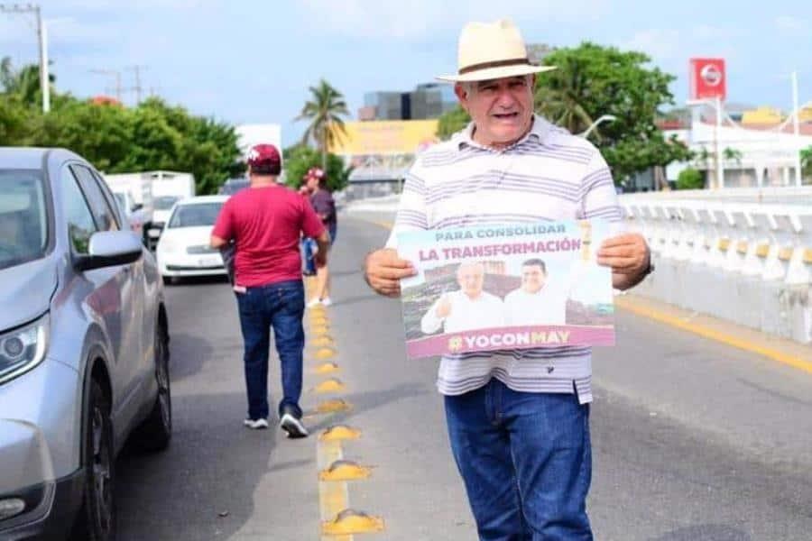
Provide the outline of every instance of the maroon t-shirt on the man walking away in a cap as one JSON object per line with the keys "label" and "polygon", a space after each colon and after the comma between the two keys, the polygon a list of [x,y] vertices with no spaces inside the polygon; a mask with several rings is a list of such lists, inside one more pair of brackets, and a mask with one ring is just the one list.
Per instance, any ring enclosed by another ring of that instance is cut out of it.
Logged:
{"label": "maroon t-shirt on the man walking away in a cap", "polygon": [[252,288],[300,280],[300,236],[323,232],[308,200],[276,185],[240,190],[230,197],[212,234],[235,240],[235,284]]}

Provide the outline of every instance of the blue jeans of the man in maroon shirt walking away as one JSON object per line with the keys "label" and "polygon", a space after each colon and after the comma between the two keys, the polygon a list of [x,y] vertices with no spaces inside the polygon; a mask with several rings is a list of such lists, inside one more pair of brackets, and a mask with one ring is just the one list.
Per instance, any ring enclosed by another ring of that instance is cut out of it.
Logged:
{"label": "blue jeans of the man in maroon shirt walking away", "polygon": [[301,415],[302,352],[304,350],[304,286],[291,280],[248,288],[237,293],[240,326],[245,342],[245,387],[248,417],[268,417],[268,354],[271,327],[281,364],[282,408],[291,406]]}

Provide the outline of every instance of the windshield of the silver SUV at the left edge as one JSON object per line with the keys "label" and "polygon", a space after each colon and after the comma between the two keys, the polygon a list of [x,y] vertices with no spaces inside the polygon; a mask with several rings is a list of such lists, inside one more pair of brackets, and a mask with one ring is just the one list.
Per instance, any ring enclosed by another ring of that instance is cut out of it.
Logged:
{"label": "windshield of the silver SUV at the left edge", "polygon": [[0,269],[45,255],[47,216],[39,170],[0,170]]}

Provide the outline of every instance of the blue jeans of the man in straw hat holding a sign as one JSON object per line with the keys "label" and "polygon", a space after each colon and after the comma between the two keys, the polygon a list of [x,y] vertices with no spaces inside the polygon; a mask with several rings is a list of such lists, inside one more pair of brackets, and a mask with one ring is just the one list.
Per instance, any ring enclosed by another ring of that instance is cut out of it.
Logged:
{"label": "blue jeans of the man in straw hat holding a sign", "polygon": [[589,406],[492,379],[445,398],[448,436],[483,541],[592,539]]}

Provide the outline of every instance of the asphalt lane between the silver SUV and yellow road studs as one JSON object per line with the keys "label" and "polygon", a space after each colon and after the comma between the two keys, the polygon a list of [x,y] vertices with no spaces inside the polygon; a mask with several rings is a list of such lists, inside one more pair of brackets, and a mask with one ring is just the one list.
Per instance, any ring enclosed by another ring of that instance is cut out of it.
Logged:
{"label": "asphalt lane between the silver SUV and yellow road studs", "polygon": [[[160,454],[120,457],[116,499],[123,540],[313,538],[318,531],[315,443],[248,430],[243,343],[224,280],[166,288],[174,434]],[[278,399],[279,363],[269,379]]]}

